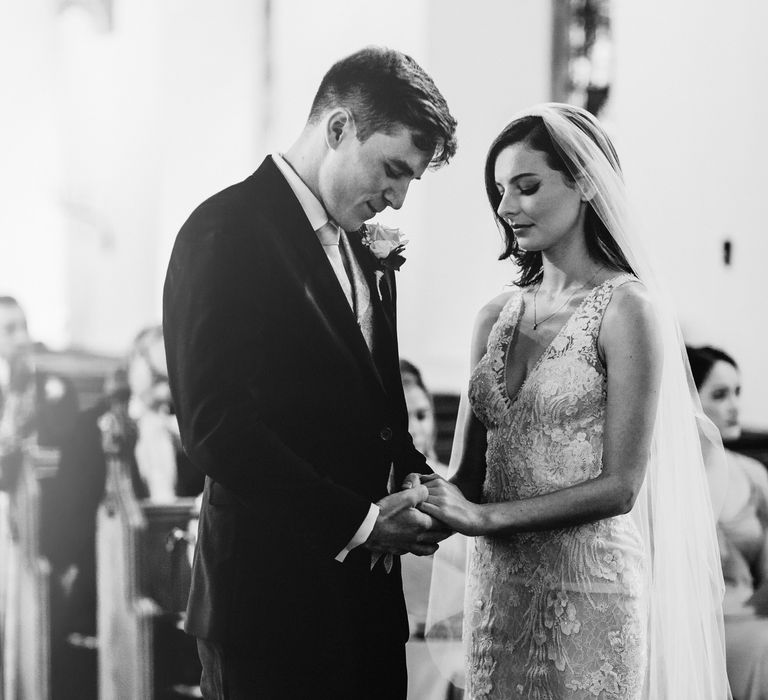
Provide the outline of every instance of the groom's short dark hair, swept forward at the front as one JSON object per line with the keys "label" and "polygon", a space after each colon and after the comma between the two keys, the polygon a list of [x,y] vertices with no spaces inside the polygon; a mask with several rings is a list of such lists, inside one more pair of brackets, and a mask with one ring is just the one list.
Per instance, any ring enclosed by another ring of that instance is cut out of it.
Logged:
{"label": "groom's short dark hair, swept forward at the front", "polygon": [[335,63],[320,83],[308,122],[316,123],[334,107],[349,110],[360,141],[405,126],[418,149],[433,153],[431,167],[456,153],[456,120],[445,98],[421,66],[400,51],[367,47]]}

